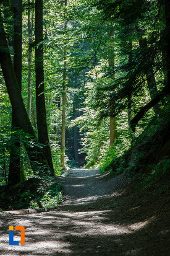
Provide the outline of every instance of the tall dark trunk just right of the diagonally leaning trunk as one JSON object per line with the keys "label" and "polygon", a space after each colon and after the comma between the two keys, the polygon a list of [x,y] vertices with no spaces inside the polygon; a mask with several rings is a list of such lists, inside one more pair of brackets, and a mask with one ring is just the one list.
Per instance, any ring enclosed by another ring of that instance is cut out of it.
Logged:
{"label": "tall dark trunk just right of the diagonally leaning trunk", "polygon": [[46,123],[45,86],[43,66],[43,0],[35,0],[35,77],[36,77],[36,120],[38,141],[43,147],[48,165],[54,174],[51,149]]}

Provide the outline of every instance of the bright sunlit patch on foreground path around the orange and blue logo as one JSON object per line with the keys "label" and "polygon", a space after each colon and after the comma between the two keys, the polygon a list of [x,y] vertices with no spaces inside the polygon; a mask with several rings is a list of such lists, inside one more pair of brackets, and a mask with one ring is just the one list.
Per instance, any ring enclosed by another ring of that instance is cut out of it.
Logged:
{"label": "bright sunlit patch on foreground path around the orange and blue logo", "polygon": [[[147,223],[134,223],[131,225],[122,224],[107,224],[107,214],[111,213],[111,210],[103,211],[61,211],[61,212],[49,212],[32,214],[27,216],[17,216],[17,219],[12,224],[16,226],[25,226],[25,245],[17,246],[9,245],[8,229],[6,234],[1,239],[1,249],[4,250],[4,254],[1,255],[50,255],[61,253],[64,255],[71,254],[72,243],[69,241],[69,237],[77,237],[77,239],[83,239],[83,237],[98,237],[98,236],[110,236],[117,237],[114,241],[119,241],[119,237],[123,234],[132,234],[137,227],[142,228]],[[11,225],[9,219],[6,223]],[[20,237],[15,235],[15,240],[19,240]],[[43,250],[43,253],[42,253]],[[35,253],[36,252],[36,253]]]}

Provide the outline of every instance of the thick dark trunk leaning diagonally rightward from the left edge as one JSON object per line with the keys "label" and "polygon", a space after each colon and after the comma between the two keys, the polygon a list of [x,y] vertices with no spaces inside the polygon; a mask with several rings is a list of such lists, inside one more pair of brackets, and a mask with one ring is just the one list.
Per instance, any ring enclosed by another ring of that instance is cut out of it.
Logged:
{"label": "thick dark trunk leaning diagonally rightward from the left edge", "polygon": [[[0,64],[2,68],[2,73],[4,80],[6,82],[7,92],[9,94],[9,99],[11,101],[12,110],[14,111],[15,118],[19,125],[20,130],[28,133],[36,141],[35,132],[33,131],[32,124],[28,118],[27,110],[23,103],[22,95],[20,92],[19,84],[15,76],[14,67],[12,65],[11,55],[9,53],[9,47],[7,45],[6,33],[4,31],[4,25],[2,22],[2,15],[0,9]],[[48,162],[46,157],[35,143],[29,145],[29,141],[25,144],[27,149],[28,157],[30,159],[30,164],[32,170],[44,169],[45,164],[48,167]],[[49,167],[49,170],[50,167]],[[51,171],[52,172],[52,171]]]}

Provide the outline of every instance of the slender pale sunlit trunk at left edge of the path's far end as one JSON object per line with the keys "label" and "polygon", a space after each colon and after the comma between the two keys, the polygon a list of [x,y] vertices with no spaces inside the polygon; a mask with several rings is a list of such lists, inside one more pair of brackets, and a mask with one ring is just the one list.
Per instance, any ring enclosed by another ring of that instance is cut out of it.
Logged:
{"label": "slender pale sunlit trunk at left edge of the path's far end", "polygon": [[[66,33],[67,29],[67,20],[66,20],[66,10],[67,8],[67,0],[64,0],[64,32]],[[62,121],[61,121],[61,167],[66,170],[65,167],[65,144],[66,144],[66,81],[67,81],[67,45],[66,40],[64,40],[63,47],[63,55],[64,55],[64,66],[63,66],[63,82],[62,82]]]}

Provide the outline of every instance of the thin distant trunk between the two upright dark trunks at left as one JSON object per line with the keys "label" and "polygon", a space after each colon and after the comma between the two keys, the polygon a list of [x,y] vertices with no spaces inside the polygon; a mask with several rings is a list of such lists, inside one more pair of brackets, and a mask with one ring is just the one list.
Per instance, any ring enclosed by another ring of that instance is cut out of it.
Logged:
{"label": "thin distant trunk between the two upright dark trunks at left", "polygon": [[32,110],[32,32],[33,32],[33,11],[31,11],[32,3],[28,0],[28,99],[27,113],[31,120]]}

